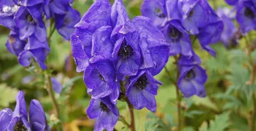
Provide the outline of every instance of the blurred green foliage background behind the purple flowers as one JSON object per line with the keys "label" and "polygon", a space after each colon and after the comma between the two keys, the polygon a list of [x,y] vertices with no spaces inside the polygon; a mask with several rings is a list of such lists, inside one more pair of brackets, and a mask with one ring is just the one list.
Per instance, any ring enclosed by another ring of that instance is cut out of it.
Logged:
{"label": "blurred green foliage background behind the purple flowers", "polygon": [[[126,10],[132,19],[141,15],[140,6],[143,0],[124,0]],[[73,7],[83,15],[92,5],[93,0],[75,0]],[[111,0],[113,3],[113,0]],[[209,1],[212,8],[228,7],[223,0]],[[33,67],[24,68],[17,62],[17,57],[6,50],[5,42],[9,30],[0,26],[0,109],[15,107],[15,95],[18,90],[25,92],[26,101],[38,99],[44,106],[49,125],[58,123],[51,116],[53,113],[51,100],[44,88],[44,81],[38,79]],[[256,48],[256,32],[250,32],[250,45]],[[252,93],[255,85],[246,84],[250,80],[250,67],[248,64],[248,52],[246,39],[242,38],[239,45],[225,48],[222,43],[212,45],[217,52],[216,58],[201,49],[196,41],[193,44],[195,52],[202,59],[202,67],[208,74],[205,84],[207,97],[191,97],[182,99],[182,130],[249,130],[248,117],[252,113]],[[251,54],[256,58],[256,51]],[[65,41],[58,32],[54,32],[51,38],[51,53],[47,57],[52,75],[63,85],[61,95],[56,95],[61,105],[61,119],[65,120],[65,130],[93,130],[93,120],[86,116],[86,107],[90,102],[90,95],[86,93],[86,85],[83,82],[83,72],[76,72],[76,64],[70,51],[70,42]],[[166,71],[156,76],[156,79],[164,83],[159,86],[157,100],[157,113],[150,113],[147,109],[135,111],[136,129],[141,130],[175,130],[177,125],[177,107],[175,86],[170,79],[176,79],[176,65],[170,57],[166,65],[172,78]],[[129,121],[129,111],[125,102],[118,102],[120,114]],[[115,130],[128,130],[121,122],[115,126]]]}

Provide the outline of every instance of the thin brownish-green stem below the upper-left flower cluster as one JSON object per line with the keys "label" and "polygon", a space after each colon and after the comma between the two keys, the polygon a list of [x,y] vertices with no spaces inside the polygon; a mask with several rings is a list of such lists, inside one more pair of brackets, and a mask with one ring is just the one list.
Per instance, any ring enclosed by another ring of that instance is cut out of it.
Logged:
{"label": "thin brownish-green stem below the upper-left flower cluster", "polygon": [[54,106],[54,110],[56,112],[56,117],[59,119],[60,116],[60,111],[59,111],[59,106],[58,103],[54,97],[54,92],[53,92],[53,88],[52,88],[52,79],[51,79],[51,75],[47,74],[47,81],[48,81],[48,86],[47,86],[47,92],[49,93],[49,96],[51,97],[52,100],[52,104]]}

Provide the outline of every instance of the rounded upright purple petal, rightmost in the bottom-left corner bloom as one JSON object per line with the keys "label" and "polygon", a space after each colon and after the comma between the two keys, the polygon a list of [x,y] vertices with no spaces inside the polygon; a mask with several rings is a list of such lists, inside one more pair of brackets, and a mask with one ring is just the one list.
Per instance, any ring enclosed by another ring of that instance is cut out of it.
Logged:
{"label": "rounded upright purple petal, rightmost in the bottom-left corner bloom", "polygon": [[31,100],[29,106],[29,121],[31,123],[31,130],[49,131],[50,127],[47,125],[44,109],[38,100]]}

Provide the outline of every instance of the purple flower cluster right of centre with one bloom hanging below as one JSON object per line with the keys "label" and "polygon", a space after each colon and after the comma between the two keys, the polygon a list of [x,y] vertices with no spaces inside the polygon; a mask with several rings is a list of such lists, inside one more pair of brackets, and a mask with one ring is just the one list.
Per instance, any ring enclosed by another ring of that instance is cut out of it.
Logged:
{"label": "purple flower cluster right of centre with one bloom hanging below", "polygon": [[164,34],[170,55],[180,54],[178,86],[184,97],[205,97],[207,74],[192,48],[190,36],[198,38],[204,50],[215,56],[209,46],[219,41],[223,22],[206,0],[144,0],[141,13],[149,17]]}

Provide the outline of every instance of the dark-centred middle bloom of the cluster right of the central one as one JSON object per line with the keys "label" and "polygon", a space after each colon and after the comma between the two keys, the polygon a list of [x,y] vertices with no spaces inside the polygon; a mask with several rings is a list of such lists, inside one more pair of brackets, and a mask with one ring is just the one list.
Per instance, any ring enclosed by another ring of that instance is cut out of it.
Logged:
{"label": "dark-centred middle bloom of the cluster right of the central one", "polygon": [[163,29],[166,41],[170,44],[170,55],[182,55],[191,56],[191,41],[188,33],[183,29],[179,20],[172,20],[166,24]]}

